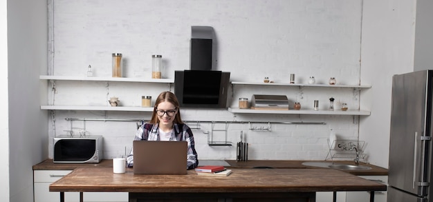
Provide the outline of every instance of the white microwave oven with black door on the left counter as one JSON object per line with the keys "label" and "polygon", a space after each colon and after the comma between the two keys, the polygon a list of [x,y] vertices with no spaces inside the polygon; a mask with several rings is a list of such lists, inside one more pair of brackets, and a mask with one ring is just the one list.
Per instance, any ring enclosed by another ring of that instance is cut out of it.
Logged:
{"label": "white microwave oven with black door on the left counter", "polygon": [[99,163],[103,157],[102,136],[54,138],[54,163]]}

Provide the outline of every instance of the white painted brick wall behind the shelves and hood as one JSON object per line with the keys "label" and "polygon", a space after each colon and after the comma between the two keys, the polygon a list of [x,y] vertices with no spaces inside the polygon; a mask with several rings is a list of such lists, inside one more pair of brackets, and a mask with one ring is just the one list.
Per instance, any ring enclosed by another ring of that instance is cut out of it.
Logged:
{"label": "white painted brick wall behind the shelves and hood", "polygon": [[[315,76],[317,83],[335,77],[339,84],[360,84],[361,1],[54,1],[55,75],[84,76],[92,65],[96,77],[111,76],[111,53],[121,52],[125,77],[151,75],[151,54],[162,54],[164,78],[174,78],[174,70],[189,69],[191,26],[212,26],[217,37],[217,70],[231,72],[231,81],[287,82],[296,74],[297,83]],[[154,89],[140,84],[104,82],[57,83],[56,104],[106,105],[107,93],[123,105],[140,105],[140,96],[156,97],[166,86]],[[369,84],[369,83],[362,83]],[[126,85],[118,86],[118,85]],[[152,86],[153,87],[153,86]],[[125,90],[125,88],[129,90]],[[373,86],[374,88],[374,86]],[[360,97],[351,89],[234,86],[231,105],[239,97],[252,94],[286,94],[300,101],[302,108],[329,105],[329,97],[358,109]],[[97,92],[97,93],[95,93]],[[231,147],[210,147],[202,130],[194,130],[199,159],[235,159],[235,143],[241,130],[250,143],[250,159],[324,159],[328,153],[329,129],[346,139],[358,139],[358,117],[231,114],[225,110],[183,109],[188,121],[314,121],[326,125],[272,125],[272,132],[248,130],[246,124],[229,126]],[[66,117],[149,119],[149,112],[55,112],[52,138],[70,130]],[[52,121],[52,120],[50,120]],[[82,123],[74,121],[73,127]],[[86,122],[91,134],[104,135],[105,157],[111,159],[131,148],[136,123]]]}

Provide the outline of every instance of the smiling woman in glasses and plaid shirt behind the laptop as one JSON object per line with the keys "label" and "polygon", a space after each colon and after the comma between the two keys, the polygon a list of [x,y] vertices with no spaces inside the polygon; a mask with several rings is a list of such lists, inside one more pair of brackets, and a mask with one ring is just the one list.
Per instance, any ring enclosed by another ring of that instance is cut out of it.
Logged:
{"label": "smiling woman in glasses and plaid shirt behind the laptop", "polygon": [[[190,127],[183,123],[178,99],[172,92],[161,92],[158,95],[151,120],[138,128],[134,140],[187,141],[187,169],[194,169],[199,165],[194,136]],[[133,150],[127,157],[127,166],[133,166]]]}

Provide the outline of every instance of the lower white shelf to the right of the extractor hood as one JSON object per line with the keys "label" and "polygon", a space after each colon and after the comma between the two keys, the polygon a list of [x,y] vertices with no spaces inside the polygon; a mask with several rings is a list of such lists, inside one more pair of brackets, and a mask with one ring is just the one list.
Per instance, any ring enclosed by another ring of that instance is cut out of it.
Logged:
{"label": "lower white shelf to the right of the extractor hood", "polygon": [[239,108],[228,108],[229,112],[234,114],[321,114],[321,115],[370,115],[369,111],[365,110],[250,110]]}

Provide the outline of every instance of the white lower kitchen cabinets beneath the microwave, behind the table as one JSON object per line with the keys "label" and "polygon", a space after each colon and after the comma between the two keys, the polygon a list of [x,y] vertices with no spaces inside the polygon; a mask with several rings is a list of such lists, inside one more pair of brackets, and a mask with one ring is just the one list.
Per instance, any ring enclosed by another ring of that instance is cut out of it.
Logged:
{"label": "white lower kitchen cabinets beneath the microwave, behind the table", "polygon": [[[62,178],[72,170],[34,170],[33,185],[35,202],[59,202],[60,193],[50,192],[49,186],[51,183]],[[65,192],[66,202],[80,201],[79,192]],[[84,192],[83,199],[86,202],[126,202],[128,201],[127,192]]]}

